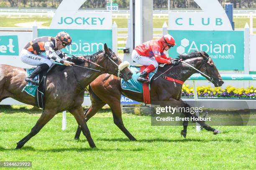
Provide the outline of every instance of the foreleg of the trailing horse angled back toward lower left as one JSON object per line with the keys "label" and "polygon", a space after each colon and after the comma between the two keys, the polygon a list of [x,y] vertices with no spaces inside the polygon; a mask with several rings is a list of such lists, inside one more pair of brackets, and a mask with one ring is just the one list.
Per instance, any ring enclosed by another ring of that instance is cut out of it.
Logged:
{"label": "foreleg of the trailing horse angled back toward lower left", "polygon": [[43,127],[49,122],[52,117],[56,115],[55,110],[44,110],[41,117],[37,120],[36,125],[31,129],[31,132],[22,140],[17,143],[16,149],[22,148],[28,140],[30,140],[34,135],[36,135]]}

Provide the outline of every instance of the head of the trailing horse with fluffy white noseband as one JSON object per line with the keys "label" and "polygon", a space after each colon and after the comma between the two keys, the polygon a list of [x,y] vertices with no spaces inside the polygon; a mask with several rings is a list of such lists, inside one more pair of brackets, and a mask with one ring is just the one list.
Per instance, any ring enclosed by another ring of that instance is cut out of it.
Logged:
{"label": "head of the trailing horse with fluffy white noseband", "polygon": [[108,48],[107,44],[104,44],[104,50],[105,60],[102,63],[102,67],[106,68],[107,73],[121,77],[125,81],[130,80],[133,73],[128,69],[128,66],[130,65],[129,62],[122,62],[122,60],[115,55],[115,52]]}

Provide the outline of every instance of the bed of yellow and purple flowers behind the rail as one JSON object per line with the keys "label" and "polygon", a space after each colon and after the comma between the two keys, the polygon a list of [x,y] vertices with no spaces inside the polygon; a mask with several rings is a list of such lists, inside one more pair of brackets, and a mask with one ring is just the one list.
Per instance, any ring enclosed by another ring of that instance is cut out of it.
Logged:
{"label": "bed of yellow and purple flowers behind the rail", "polygon": [[[202,86],[197,87],[197,95],[198,97],[235,97],[256,99],[256,88],[254,88],[253,86],[247,88],[236,88],[233,86],[227,86],[225,89],[221,89],[221,87],[212,88],[210,86]],[[189,85],[182,85],[182,97],[193,96],[193,87],[189,87]]]}

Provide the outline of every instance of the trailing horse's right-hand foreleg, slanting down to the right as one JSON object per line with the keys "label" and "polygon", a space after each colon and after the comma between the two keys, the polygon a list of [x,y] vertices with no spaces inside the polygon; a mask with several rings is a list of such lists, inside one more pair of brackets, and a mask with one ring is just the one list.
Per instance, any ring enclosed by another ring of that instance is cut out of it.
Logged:
{"label": "trailing horse's right-hand foreleg, slanting down to the right", "polygon": [[90,130],[85,122],[84,119],[84,110],[83,107],[80,106],[79,108],[75,108],[75,109],[71,109],[69,110],[69,112],[74,115],[75,119],[77,120],[77,123],[80,125],[82,132],[84,134],[84,136],[86,137],[89,145],[91,148],[95,148],[96,145],[92,140],[91,134],[90,134]]}

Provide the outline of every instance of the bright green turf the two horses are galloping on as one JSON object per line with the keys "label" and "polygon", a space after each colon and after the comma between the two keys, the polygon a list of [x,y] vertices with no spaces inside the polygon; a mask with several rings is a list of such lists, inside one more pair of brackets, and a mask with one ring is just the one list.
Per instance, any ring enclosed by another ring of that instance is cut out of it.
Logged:
{"label": "bright green turf the two horses are galloping on", "polygon": [[[29,114],[29,113],[33,114]],[[255,127],[215,127],[218,135],[188,127],[151,126],[149,116],[123,115],[126,128],[138,141],[114,125],[110,110],[103,110],[87,123],[97,148],[84,136],[74,140],[77,123],[67,114],[67,130],[56,115],[20,150],[16,143],[26,136],[41,110],[25,107],[0,108],[0,160],[32,161],[33,169],[254,169]],[[254,168],[253,168],[254,167]]]}

